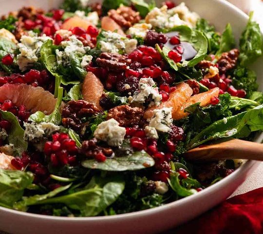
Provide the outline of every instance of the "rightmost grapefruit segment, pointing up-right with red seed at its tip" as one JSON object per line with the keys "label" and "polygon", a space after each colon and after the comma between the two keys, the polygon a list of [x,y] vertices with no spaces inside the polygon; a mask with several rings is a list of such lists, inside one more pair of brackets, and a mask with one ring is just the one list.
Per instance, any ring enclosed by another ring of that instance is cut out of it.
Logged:
{"label": "rightmost grapefruit segment, pointing up-right with red seed at its tip", "polygon": [[210,104],[210,100],[212,97],[218,97],[219,95],[219,88],[214,88],[212,90],[208,90],[207,92],[201,92],[199,94],[196,94],[188,99],[188,101],[181,107],[178,108],[177,111],[172,116],[175,120],[180,120],[188,116],[187,112],[185,111],[185,108],[189,107],[190,105],[193,105],[195,103],[200,102],[201,107],[206,107]]}

